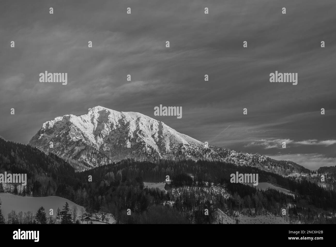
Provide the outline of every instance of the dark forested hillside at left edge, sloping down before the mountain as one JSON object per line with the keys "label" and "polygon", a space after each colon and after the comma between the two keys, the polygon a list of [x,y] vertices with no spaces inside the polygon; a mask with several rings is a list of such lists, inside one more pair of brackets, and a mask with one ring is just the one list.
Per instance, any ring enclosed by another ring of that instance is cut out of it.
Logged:
{"label": "dark forested hillside at left edge, sloping down before the mountain", "polygon": [[[65,160],[51,153],[46,155],[30,145],[0,138],[0,173],[5,171],[27,174],[27,189],[33,196],[53,195],[58,184],[75,183],[75,169]],[[8,192],[14,188],[11,184],[6,187]]]}

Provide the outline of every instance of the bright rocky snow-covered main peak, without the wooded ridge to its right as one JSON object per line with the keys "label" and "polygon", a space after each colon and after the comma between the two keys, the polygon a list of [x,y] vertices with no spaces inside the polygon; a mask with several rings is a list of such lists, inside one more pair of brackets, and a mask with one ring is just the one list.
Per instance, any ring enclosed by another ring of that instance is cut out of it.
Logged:
{"label": "bright rocky snow-covered main peak, without the wooded ridge to its right", "polygon": [[152,117],[102,106],[81,116],[70,114],[45,122],[29,144],[89,166],[125,158],[171,158],[184,146],[203,145]]}

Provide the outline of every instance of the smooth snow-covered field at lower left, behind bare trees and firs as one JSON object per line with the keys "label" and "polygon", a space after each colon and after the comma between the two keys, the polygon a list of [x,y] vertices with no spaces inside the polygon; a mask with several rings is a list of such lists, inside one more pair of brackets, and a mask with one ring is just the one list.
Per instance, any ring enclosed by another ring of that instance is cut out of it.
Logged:
{"label": "smooth snow-covered field at lower left, behind bare trees and firs", "polygon": [[[30,196],[17,196],[9,193],[0,193],[1,199],[1,211],[6,218],[10,211],[15,210],[16,213],[31,211],[33,214],[42,206],[49,216],[49,210],[53,209],[54,217],[56,217],[57,208],[63,210],[63,206],[66,202],[69,203],[69,208],[73,205],[77,206],[78,214],[81,211],[82,206],[76,203],[58,196],[48,196],[48,197],[30,197]],[[85,210],[85,209],[84,209]]]}

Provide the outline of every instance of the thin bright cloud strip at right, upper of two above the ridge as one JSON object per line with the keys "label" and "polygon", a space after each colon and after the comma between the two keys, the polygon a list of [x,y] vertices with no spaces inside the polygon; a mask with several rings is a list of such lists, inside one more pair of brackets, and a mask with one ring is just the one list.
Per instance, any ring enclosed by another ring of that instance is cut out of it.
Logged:
{"label": "thin bright cloud strip at right, upper of two above the ridge", "polygon": [[294,141],[290,139],[272,139],[272,140],[261,139],[261,140],[253,141],[245,145],[245,147],[263,146],[265,149],[282,148],[282,142],[286,142],[286,145],[292,144],[292,146],[300,146],[300,145],[330,146],[330,145],[336,144],[336,140],[319,141],[316,139],[309,139],[309,140],[303,140],[303,141]]}

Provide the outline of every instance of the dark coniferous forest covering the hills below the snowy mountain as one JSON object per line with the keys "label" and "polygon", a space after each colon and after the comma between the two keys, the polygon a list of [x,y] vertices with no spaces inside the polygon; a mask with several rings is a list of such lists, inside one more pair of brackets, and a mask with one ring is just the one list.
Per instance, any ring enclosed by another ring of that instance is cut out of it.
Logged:
{"label": "dark coniferous forest covering the hills below the snowy mountain", "polygon": [[[118,224],[214,224],[222,223],[224,214],[236,223],[240,215],[278,216],[286,223],[336,223],[333,190],[254,166],[205,160],[128,159],[75,172],[65,160],[29,145],[0,139],[0,150],[0,173],[27,173],[28,177],[27,186],[14,184],[4,189],[0,184],[0,193],[64,197],[87,212],[111,213]],[[258,174],[259,183],[267,182],[291,193],[230,183],[230,174],[237,171]],[[162,183],[166,176],[170,182],[165,183],[164,190],[144,184]],[[41,216],[43,211],[38,211],[38,222],[47,223]],[[68,221],[72,223],[71,218]]]}

